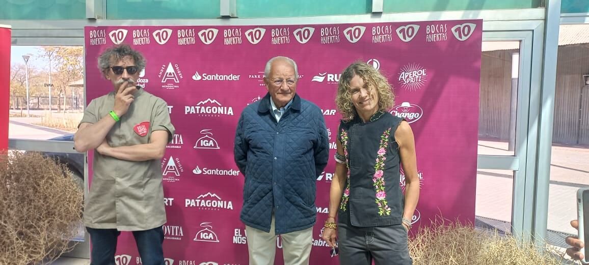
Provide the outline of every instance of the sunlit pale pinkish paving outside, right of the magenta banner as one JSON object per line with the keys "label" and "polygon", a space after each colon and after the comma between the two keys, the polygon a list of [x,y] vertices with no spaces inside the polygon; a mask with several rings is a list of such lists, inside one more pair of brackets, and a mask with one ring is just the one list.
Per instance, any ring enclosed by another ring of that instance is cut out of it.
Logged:
{"label": "sunlit pale pinkish paving outside, right of the magenta banner", "polygon": [[[512,155],[507,143],[479,141],[479,154]],[[548,195],[548,229],[577,233],[570,220],[577,219],[577,189],[589,185],[589,147],[552,146]],[[479,170],[477,172],[477,216],[511,220],[513,194],[511,170]]]}

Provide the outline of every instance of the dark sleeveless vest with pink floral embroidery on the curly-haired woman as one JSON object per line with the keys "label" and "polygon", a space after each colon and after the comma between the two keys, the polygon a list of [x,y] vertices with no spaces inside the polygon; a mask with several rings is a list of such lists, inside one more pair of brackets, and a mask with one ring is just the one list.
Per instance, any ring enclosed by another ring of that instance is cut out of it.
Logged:
{"label": "dark sleeveless vest with pink floral embroidery on the curly-haired woman", "polygon": [[348,180],[339,207],[341,222],[372,227],[400,224],[403,194],[399,187],[399,145],[395,130],[402,118],[376,112],[369,122],[340,122]]}

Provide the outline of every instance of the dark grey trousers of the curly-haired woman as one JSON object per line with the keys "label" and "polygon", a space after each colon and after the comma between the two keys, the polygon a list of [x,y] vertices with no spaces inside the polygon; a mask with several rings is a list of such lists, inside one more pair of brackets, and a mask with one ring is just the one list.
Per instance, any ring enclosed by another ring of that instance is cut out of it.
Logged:
{"label": "dark grey trousers of the curly-haired woman", "polygon": [[341,265],[411,265],[407,232],[402,224],[357,227],[337,224],[337,246]]}

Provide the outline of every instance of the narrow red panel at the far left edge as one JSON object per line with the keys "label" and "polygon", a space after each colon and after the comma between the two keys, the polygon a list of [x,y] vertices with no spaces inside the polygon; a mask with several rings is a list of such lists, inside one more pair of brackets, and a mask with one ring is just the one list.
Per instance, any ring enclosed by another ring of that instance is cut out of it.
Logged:
{"label": "narrow red panel at the far left edge", "polygon": [[0,152],[8,149],[10,26],[0,25]]}

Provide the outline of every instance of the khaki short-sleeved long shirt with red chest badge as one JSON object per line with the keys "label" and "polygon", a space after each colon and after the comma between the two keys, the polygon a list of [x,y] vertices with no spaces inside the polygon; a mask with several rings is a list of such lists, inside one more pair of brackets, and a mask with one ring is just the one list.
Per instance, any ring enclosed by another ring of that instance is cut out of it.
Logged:
{"label": "khaki short-sleeved long shirt with red chest badge", "polygon": [[[114,96],[111,92],[92,100],[80,124],[96,123],[109,116]],[[145,122],[148,126],[141,126],[142,123],[147,125]],[[150,142],[151,132],[155,130],[166,130],[168,142],[174,135],[167,103],[140,89],[135,92],[127,113],[112,126],[106,139],[111,147],[141,145]],[[100,155],[94,150],[90,193],[84,209],[85,226],[138,231],[163,225],[166,210],[161,181],[160,160],[127,161]]]}

